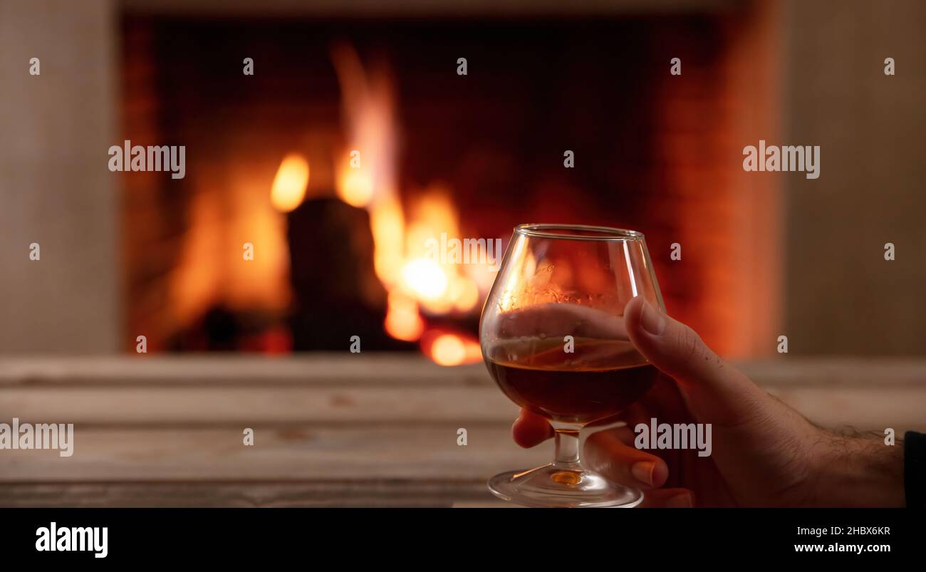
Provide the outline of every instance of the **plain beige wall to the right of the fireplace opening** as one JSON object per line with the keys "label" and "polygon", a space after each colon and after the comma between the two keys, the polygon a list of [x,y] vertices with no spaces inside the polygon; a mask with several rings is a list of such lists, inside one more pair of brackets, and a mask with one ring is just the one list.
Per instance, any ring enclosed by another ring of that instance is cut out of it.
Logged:
{"label": "plain beige wall to the right of the fireplace opening", "polygon": [[789,351],[926,354],[926,3],[794,1],[785,33],[785,138],[821,147],[782,173]]}

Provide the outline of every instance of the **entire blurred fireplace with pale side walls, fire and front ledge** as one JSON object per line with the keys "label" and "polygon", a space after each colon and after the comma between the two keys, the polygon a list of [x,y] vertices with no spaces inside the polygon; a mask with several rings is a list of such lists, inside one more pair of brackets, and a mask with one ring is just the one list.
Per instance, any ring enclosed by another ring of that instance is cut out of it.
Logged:
{"label": "entire blurred fireplace with pale side walls, fire and front ledge", "polygon": [[[476,357],[490,265],[419,259],[529,220],[643,230],[669,312],[820,427],[923,431],[924,14],[0,4],[0,420],[77,431],[0,455],[0,505],[484,503],[548,450],[482,364],[442,367]],[[184,145],[185,176],[110,171],[126,140]],[[826,172],[746,173],[760,140]]]}

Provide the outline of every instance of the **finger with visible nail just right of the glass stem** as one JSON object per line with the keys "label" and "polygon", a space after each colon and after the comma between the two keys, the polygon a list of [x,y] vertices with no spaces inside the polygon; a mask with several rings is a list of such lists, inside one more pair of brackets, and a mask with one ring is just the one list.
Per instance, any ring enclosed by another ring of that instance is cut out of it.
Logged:
{"label": "finger with visible nail just right of the glass stem", "polygon": [[585,462],[603,477],[644,490],[661,487],[669,478],[669,466],[654,454],[621,441],[618,431],[589,435],[583,448]]}

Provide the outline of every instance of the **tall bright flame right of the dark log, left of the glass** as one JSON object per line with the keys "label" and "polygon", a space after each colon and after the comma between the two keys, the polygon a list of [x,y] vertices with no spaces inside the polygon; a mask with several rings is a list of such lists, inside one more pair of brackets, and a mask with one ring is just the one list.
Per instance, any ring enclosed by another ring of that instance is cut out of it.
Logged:
{"label": "tall bright flame right of the dark log, left of the glass", "polygon": [[491,285],[477,276],[488,276],[488,269],[464,268],[433,252],[442,234],[460,235],[449,190],[434,186],[403,209],[394,173],[398,137],[389,75],[382,69],[368,74],[350,47],[333,50],[332,60],[344,94],[351,149],[350,160],[338,166],[337,194],[369,211],[373,264],[389,292],[385,330],[398,340],[421,340],[425,354],[441,365],[477,361],[479,343],[471,336],[445,332],[435,337],[425,317],[471,312],[479,304],[481,288]]}

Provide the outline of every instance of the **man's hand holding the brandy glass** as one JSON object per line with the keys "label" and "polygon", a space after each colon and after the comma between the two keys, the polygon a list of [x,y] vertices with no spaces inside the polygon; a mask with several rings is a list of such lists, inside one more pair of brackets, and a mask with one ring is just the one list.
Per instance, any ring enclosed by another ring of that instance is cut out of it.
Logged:
{"label": "man's hand holding the brandy glass", "polygon": [[[814,426],[725,363],[694,330],[642,298],[627,304],[619,330],[668,378],[660,377],[621,414],[627,427],[587,437],[584,463],[643,489],[644,505],[903,505],[902,447]],[[651,417],[712,424],[711,456],[691,449],[660,451],[661,456],[636,449],[632,427]],[[513,427],[522,447],[552,435],[546,420],[527,410]]]}

